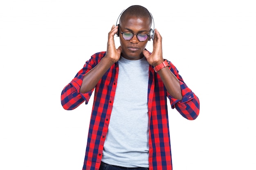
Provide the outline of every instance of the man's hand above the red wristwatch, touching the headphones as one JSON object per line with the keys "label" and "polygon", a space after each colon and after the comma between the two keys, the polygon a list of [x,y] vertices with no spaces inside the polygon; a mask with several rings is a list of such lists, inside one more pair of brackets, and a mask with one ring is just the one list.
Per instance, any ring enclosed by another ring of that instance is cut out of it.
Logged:
{"label": "man's hand above the red wristwatch, touching the headphones", "polygon": [[143,54],[146,57],[148,63],[154,67],[164,62],[162,50],[162,36],[159,34],[157,29],[155,29],[155,38],[153,40],[153,51],[151,55],[146,50],[143,51]]}

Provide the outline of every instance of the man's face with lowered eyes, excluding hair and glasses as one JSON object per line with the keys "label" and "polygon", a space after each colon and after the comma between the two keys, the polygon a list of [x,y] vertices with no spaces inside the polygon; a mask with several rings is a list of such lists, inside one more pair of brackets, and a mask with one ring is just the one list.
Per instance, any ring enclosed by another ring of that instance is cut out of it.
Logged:
{"label": "man's face with lowered eyes, excluding hair and glasses", "polygon": [[[124,40],[121,32],[130,31],[135,33],[131,40]],[[135,16],[126,16],[119,24],[120,44],[123,49],[121,55],[128,60],[139,60],[144,55],[142,51],[145,49],[148,38],[144,42],[137,39],[136,33],[150,33],[150,20],[148,18],[137,18]]]}

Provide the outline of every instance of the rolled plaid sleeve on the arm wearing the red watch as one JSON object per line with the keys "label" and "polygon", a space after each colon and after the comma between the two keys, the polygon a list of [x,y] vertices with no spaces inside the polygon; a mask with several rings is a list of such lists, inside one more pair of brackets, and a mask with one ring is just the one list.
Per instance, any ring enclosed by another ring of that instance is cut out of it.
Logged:
{"label": "rolled plaid sleeve on the arm wearing the red watch", "polygon": [[200,111],[200,101],[191,89],[184,83],[177,68],[169,61],[171,72],[179,79],[182,91],[182,99],[173,98],[168,92],[167,96],[171,101],[171,108],[175,108],[183,117],[194,120],[198,117]]}

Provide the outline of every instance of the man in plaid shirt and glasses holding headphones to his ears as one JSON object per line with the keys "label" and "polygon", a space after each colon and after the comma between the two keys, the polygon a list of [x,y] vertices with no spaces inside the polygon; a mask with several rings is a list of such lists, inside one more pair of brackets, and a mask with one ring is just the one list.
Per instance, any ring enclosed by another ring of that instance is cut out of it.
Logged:
{"label": "man in plaid shirt and glasses holding headphones to his ears", "polygon": [[[61,93],[63,108],[72,110],[95,90],[83,170],[172,170],[167,98],[186,119],[198,117],[199,99],[164,60],[152,19],[139,5],[121,13],[107,51],[92,55]],[[151,39],[152,53],[145,49]]]}

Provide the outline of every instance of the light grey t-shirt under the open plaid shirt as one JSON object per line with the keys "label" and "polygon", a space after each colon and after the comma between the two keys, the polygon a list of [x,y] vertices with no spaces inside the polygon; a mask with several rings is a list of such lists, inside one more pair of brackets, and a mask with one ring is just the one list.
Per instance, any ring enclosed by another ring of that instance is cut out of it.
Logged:
{"label": "light grey t-shirt under the open plaid shirt", "polygon": [[117,88],[102,161],[148,167],[148,68],[146,58],[120,57]]}

